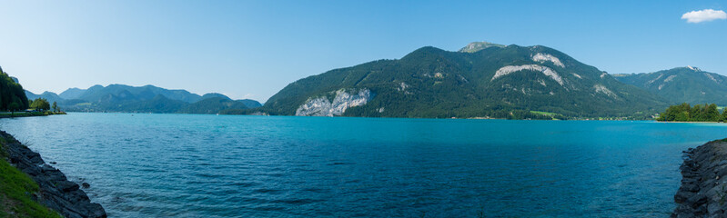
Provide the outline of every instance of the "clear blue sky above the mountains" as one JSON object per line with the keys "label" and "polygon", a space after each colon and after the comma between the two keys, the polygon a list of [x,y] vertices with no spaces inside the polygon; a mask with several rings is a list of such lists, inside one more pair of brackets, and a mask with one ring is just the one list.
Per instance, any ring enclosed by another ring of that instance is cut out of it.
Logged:
{"label": "clear blue sky above the mountains", "polygon": [[727,1],[5,1],[0,66],[35,93],[154,84],[264,102],[330,69],[474,41],[546,45],[609,73],[727,74]]}

